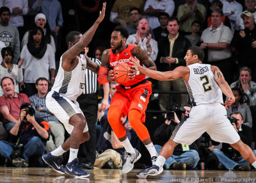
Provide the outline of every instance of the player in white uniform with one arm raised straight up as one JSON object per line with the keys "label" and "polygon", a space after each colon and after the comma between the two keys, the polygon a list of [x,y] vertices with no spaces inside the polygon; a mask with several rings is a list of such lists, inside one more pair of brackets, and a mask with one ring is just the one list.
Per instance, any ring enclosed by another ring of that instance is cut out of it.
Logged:
{"label": "player in white uniform with one arm raised straight up", "polygon": [[[90,174],[84,171],[77,161],[77,152],[80,143],[90,138],[86,119],[79,108],[76,99],[84,91],[85,70],[99,73],[99,65],[91,61],[87,56],[79,58],[79,53],[91,42],[92,37],[100,22],[104,19],[106,3],[103,3],[102,12],[93,26],[81,35],[77,31],[71,31],[66,36],[68,50],[60,58],[60,68],[56,76],[51,92],[47,94],[45,103],[49,111],[65,126],[70,134],[60,147],[42,156],[45,163],[52,166],[58,173],[68,173],[75,177],[88,177]],[[61,167],[60,155],[70,150],[68,163]]]}

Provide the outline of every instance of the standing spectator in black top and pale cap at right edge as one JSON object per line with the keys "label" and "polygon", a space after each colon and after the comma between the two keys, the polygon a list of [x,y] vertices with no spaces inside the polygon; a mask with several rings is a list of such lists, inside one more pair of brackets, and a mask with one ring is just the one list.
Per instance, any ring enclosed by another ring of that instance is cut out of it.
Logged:
{"label": "standing spectator in black top and pale cap at right edge", "polygon": [[236,48],[238,66],[249,67],[252,73],[252,80],[256,81],[256,26],[253,13],[246,12],[241,14],[244,29],[236,31],[232,40],[232,46]]}

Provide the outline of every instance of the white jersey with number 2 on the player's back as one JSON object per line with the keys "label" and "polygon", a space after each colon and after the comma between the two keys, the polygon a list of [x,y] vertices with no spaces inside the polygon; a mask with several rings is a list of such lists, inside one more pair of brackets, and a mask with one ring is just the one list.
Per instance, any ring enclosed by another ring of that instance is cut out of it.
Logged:
{"label": "white jersey with number 2 on the player's back", "polygon": [[192,105],[223,103],[222,92],[214,79],[211,65],[194,63],[188,68],[190,76],[188,83],[185,83]]}

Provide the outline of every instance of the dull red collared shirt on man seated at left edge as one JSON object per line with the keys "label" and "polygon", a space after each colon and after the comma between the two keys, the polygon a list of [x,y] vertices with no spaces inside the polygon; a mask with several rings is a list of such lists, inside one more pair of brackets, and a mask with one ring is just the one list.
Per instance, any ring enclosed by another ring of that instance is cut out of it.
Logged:
{"label": "dull red collared shirt on man seated at left edge", "polygon": [[0,109],[8,107],[10,115],[18,120],[20,117],[20,106],[25,102],[30,104],[28,96],[24,93],[15,93],[13,97],[3,95],[0,97]]}

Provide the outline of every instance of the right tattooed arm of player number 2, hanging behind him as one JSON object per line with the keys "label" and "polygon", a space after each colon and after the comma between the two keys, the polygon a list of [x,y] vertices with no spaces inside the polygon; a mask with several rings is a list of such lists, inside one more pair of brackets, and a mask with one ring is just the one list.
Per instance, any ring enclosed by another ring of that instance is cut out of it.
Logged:
{"label": "right tattooed arm of player number 2, hanging behind him", "polygon": [[220,68],[216,66],[211,66],[212,73],[214,74],[215,81],[219,84],[221,91],[228,97],[228,100],[224,102],[224,105],[227,109],[228,106],[235,102],[235,97],[232,93],[230,86],[228,85],[227,81],[225,80]]}

